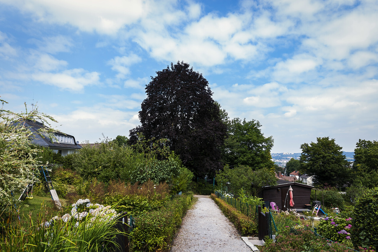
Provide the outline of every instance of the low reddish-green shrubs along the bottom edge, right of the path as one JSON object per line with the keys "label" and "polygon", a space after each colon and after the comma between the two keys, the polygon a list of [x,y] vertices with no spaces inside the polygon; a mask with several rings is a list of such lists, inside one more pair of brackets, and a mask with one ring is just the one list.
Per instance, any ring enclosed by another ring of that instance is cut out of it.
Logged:
{"label": "low reddish-green shrubs along the bottom edge, right of the path", "polygon": [[315,236],[311,231],[304,231],[298,235],[279,235],[275,243],[264,246],[261,252],[353,252],[352,249],[340,246],[338,243],[329,243],[324,238]]}

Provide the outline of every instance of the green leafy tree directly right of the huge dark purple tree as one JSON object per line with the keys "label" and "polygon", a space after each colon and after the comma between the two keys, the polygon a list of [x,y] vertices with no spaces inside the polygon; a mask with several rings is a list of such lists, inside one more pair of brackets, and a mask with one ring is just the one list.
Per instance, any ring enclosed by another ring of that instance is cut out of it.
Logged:
{"label": "green leafy tree directly right of the huge dark purple tree", "polygon": [[228,137],[225,140],[223,161],[231,168],[248,165],[254,170],[268,168],[273,170],[270,150],[273,138],[264,137],[259,121],[241,121],[234,118],[228,123]]}

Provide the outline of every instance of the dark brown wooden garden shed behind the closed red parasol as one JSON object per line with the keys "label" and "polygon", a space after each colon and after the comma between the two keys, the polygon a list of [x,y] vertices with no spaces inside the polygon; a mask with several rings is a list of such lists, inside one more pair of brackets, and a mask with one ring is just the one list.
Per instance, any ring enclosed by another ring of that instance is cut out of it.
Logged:
{"label": "dark brown wooden garden shed behind the closed red parasol", "polygon": [[[262,187],[263,201],[267,202],[268,204],[273,201],[276,203],[279,209],[285,211],[291,208],[303,210],[307,208],[306,204],[310,204],[311,189],[314,188],[312,185],[305,185],[280,179],[277,181],[277,184],[278,185]],[[293,207],[290,207],[289,204],[290,194],[288,194],[288,190],[290,186],[293,189]]]}

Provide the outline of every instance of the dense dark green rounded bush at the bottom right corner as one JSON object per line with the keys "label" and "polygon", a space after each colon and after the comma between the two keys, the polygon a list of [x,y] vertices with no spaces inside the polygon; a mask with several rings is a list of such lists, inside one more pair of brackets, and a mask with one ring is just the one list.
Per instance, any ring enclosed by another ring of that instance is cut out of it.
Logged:
{"label": "dense dark green rounded bush at the bottom right corner", "polygon": [[358,198],[352,215],[352,241],[356,246],[378,248],[378,187]]}

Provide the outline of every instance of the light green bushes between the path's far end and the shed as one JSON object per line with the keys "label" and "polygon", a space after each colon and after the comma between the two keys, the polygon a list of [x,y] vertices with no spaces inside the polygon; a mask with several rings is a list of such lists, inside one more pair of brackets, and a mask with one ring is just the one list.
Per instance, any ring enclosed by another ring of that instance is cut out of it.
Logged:
{"label": "light green bushes between the path's far end and the shed", "polygon": [[228,191],[237,195],[240,188],[248,195],[257,196],[263,185],[275,185],[276,177],[273,170],[268,168],[261,168],[253,170],[249,166],[236,166],[234,169],[225,166],[223,171],[220,171],[215,180],[218,185],[228,186]]}

